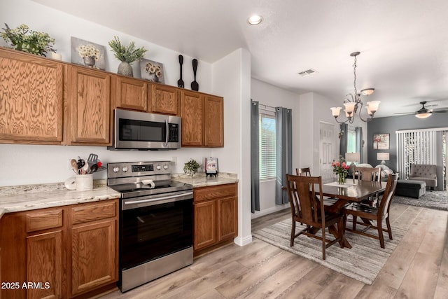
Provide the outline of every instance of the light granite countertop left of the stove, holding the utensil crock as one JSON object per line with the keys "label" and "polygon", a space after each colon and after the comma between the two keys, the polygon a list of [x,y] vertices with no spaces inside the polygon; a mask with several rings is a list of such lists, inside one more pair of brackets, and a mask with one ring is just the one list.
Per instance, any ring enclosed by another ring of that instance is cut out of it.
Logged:
{"label": "light granite countertop left of the stove, holding the utensil crock", "polygon": [[5,213],[119,198],[120,193],[94,181],[93,190],[67,190],[64,183],[0,187],[0,218]]}

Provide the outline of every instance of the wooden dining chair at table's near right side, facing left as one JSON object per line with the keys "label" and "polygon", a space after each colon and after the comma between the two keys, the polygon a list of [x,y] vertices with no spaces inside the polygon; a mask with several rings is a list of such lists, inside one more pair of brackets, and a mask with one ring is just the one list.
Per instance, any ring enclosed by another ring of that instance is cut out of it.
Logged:
{"label": "wooden dining chair at table's near right side, facing left", "polygon": [[[398,174],[389,174],[387,179],[386,190],[384,190],[384,195],[379,202],[379,207],[366,207],[360,204],[350,204],[348,207],[342,209],[344,214],[344,228],[349,232],[354,232],[359,235],[364,235],[367,237],[372,237],[374,239],[379,239],[379,245],[384,248],[384,236],[383,232],[388,232],[389,239],[392,239],[391,222],[389,220],[389,208],[391,207],[391,202],[393,195],[395,194],[395,189],[397,188]],[[353,217],[352,229],[346,228],[347,216],[351,215]],[[358,221],[358,216],[363,220],[363,222]],[[382,221],[386,221],[387,228],[382,227]],[[376,225],[375,222],[376,222]],[[356,230],[356,225],[364,225],[366,228],[364,230]],[[366,231],[370,228],[376,229],[378,235],[372,235]]]}

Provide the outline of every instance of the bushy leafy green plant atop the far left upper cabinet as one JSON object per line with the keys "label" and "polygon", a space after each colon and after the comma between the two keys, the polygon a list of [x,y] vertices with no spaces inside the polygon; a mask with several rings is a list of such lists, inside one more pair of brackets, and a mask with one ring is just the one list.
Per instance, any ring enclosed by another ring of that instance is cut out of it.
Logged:
{"label": "bushy leafy green plant atop the far left upper cabinet", "polygon": [[5,23],[5,27],[2,28],[1,37],[7,43],[10,43],[15,50],[42,56],[45,56],[45,53],[49,51],[56,53],[55,49],[52,48],[55,39],[52,39],[47,33],[30,30],[25,24],[10,29],[8,24]]}

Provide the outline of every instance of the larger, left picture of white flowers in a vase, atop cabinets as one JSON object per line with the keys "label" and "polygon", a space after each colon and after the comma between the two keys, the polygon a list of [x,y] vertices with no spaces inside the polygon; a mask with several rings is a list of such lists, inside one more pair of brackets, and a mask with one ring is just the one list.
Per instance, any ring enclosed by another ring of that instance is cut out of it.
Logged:
{"label": "larger, left picture of white flowers in a vase, atop cabinets", "polygon": [[76,64],[92,67],[93,69],[106,69],[104,55],[106,47],[84,41],[77,37],[71,36],[71,62]]}

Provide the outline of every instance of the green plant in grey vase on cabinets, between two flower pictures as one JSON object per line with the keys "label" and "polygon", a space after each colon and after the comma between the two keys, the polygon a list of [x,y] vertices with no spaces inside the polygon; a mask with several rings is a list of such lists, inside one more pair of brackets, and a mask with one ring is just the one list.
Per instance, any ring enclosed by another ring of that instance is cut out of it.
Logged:
{"label": "green plant in grey vase on cabinets, between two flower pictures", "polygon": [[144,47],[135,48],[132,41],[129,46],[124,46],[118,36],[113,36],[113,40],[109,41],[109,46],[112,48],[113,55],[120,60],[117,73],[124,76],[133,76],[131,64],[135,60],[141,60],[145,56],[146,49]]}

